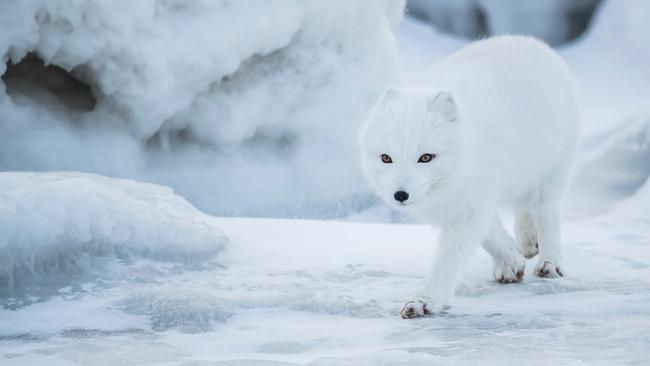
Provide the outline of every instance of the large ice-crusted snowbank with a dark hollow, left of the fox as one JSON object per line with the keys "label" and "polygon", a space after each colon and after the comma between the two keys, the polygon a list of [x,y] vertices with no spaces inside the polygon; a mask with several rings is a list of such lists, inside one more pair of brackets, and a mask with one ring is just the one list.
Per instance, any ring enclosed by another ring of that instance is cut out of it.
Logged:
{"label": "large ice-crusted snowbank with a dark hollow, left of the fox", "polygon": [[219,214],[349,210],[366,192],[357,126],[395,77],[403,7],[3,1],[0,169],[162,183]]}

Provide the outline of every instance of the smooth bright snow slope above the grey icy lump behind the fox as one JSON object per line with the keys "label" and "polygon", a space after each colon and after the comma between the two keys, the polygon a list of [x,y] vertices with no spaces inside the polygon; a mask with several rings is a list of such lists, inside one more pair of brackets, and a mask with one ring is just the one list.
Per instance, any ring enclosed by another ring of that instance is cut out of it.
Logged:
{"label": "smooth bright snow slope above the grey icy lump behind the fox", "polygon": [[650,115],[648,14],[644,1],[606,2],[594,15],[596,26],[580,42],[560,49],[583,97],[585,141],[598,141],[598,134]]}

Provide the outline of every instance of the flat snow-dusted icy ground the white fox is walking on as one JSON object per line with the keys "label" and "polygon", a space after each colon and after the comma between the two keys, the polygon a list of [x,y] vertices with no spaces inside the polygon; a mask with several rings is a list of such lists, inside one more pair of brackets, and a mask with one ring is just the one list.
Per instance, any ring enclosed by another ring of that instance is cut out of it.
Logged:
{"label": "flat snow-dusted icy ground the white fox is walking on", "polygon": [[650,357],[648,192],[566,226],[567,277],[536,278],[529,263],[523,283],[499,285],[480,252],[454,306],[414,321],[398,311],[424,280],[431,228],[219,219],[232,240],[222,267],[1,311],[0,357],[14,365],[641,365]]}

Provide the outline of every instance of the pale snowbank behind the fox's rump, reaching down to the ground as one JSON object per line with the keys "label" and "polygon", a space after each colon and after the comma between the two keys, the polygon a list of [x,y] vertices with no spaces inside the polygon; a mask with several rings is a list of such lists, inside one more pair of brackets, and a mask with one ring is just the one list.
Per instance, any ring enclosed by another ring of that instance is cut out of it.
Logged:
{"label": "pale snowbank behind the fox's rump, reaching down to the ground", "polygon": [[570,217],[606,213],[650,176],[649,14],[647,2],[605,2],[595,14],[596,26],[560,49],[575,76],[583,115]]}

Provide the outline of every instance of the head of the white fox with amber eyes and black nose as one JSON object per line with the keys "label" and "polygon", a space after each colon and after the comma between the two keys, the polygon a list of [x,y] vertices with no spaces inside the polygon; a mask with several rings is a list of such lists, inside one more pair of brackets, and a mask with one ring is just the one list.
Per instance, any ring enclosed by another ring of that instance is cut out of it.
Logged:
{"label": "head of the white fox with amber eyes and black nose", "polygon": [[384,93],[360,133],[362,169],[376,194],[403,209],[435,200],[458,175],[458,117],[449,92]]}

